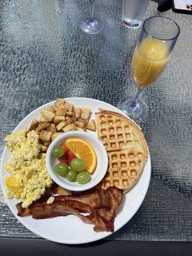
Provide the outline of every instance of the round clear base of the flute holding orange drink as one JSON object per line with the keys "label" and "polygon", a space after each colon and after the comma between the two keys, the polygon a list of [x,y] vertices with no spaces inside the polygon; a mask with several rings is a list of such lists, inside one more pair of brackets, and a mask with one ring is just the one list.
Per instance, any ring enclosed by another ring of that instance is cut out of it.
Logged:
{"label": "round clear base of the flute holding orange drink", "polygon": [[147,106],[143,100],[138,99],[136,104],[133,104],[134,97],[126,97],[118,102],[116,108],[120,109],[127,116],[136,122],[141,122],[147,117]]}

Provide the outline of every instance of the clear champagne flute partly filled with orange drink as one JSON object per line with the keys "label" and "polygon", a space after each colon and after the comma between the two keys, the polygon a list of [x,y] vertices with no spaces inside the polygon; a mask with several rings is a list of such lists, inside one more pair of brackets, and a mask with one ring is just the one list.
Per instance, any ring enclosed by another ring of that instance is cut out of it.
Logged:
{"label": "clear champagne flute partly filled with orange drink", "polygon": [[137,92],[134,97],[126,97],[117,105],[132,119],[140,122],[146,118],[147,106],[139,99],[140,93],[163,73],[179,33],[177,23],[165,17],[150,17],[143,22],[131,61]]}

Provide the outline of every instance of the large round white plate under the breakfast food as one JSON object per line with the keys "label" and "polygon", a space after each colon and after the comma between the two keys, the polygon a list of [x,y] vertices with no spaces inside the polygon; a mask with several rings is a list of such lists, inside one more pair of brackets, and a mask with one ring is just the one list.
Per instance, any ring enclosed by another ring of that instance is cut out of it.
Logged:
{"label": "large round white plate under the breakfast food", "polygon": [[[111,109],[113,111],[122,113],[119,109],[111,106],[106,102],[102,102],[100,100],[95,99],[88,99],[88,98],[68,98],[66,99],[68,102],[74,104],[76,107],[83,107],[86,106],[87,108],[92,109],[92,118],[94,118],[94,113],[98,112],[98,108],[105,108]],[[34,118],[39,118],[40,110],[50,106],[54,103],[54,101],[41,106],[40,108],[35,109],[31,112],[26,118],[24,118],[19,125],[15,128],[15,132],[19,131],[20,129],[29,127],[31,124],[31,120]],[[91,131],[89,131],[91,132]],[[95,132],[91,132],[95,136],[97,134]],[[2,161],[1,161],[1,186],[3,188],[3,194],[6,198],[5,193],[5,182],[4,178],[6,177],[7,173],[3,168],[3,164],[9,161],[11,156],[10,151],[8,148],[4,148]],[[138,211],[140,205],[145,198],[147,193],[148,185],[150,182],[150,154],[148,156],[147,164],[145,165],[145,169],[138,180],[137,184],[131,191],[125,193],[122,204],[120,208],[116,212],[115,217],[115,231],[119,228],[123,227],[127,221],[131,220],[132,216]],[[65,243],[65,244],[83,244],[83,243],[90,243],[92,241],[97,241],[104,237],[107,237],[111,234],[111,232],[94,232],[93,225],[83,223],[79,218],[73,215],[65,216],[65,217],[57,217],[52,219],[45,219],[45,220],[34,220],[31,216],[26,217],[19,217],[17,216],[17,209],[15,205],[19,200],[15,199],[7,199],[6,202],[10,210],[17,218],[17,220],[22,223],[26,228],[31,230],[38,236],[44,237],[45,239],[57,242],[57,243]]]}

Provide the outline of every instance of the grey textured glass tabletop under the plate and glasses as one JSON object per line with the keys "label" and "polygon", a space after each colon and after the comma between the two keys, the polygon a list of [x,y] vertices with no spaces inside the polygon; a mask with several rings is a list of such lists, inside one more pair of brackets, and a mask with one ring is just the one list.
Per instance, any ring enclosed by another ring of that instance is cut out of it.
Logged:
{"label": "grey textured glass tabletop under the plate and glasses", "polygon": [[[86,35],[79,22],[88,1],[1,0],[0,150],[3,138],[28,113],[57,97],[91,97],[116,106],[136,88],[131,53],[140,29],[121,24],[121,1],[97,0],[100,35]],[[129,223],[106,239],[191,241],[191,25],[190,15],[157,11],[180,26],[163,75],[143,92],[148,117],[141,127],[152,157],[147,196]],[[17,221],[0,191],[0,236],[39,238]]]}

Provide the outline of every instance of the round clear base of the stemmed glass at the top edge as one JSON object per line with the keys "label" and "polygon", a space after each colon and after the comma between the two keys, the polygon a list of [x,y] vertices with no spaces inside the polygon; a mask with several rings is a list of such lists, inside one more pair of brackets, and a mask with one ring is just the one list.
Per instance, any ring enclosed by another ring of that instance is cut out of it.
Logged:
{"label": "round clear base of the stemmed glass at the top edge", "polygon": [[88,18],[81,22],[81,30],[88,34],[98,34],[102,30],[102,22],[95,18]]}

